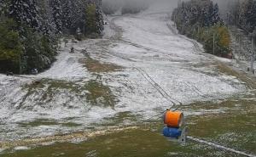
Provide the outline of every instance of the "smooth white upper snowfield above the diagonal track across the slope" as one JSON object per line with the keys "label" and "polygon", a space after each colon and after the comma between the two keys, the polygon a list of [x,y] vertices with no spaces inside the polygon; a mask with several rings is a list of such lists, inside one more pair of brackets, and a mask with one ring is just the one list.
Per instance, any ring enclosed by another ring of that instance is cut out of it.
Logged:
{"label": "smooth white upper snowfield above the diagonal track across the slope", "polygon": [[124,18],[116,23],[124,25],[123,38],[125,40],[148,48],[161,57],[189,61],[199,58],[198,54],[193,52],[193,43],[174,36],[166,26],[165,20],[160,19],[160,14],[151,15],[143,20],[132,17]]}

